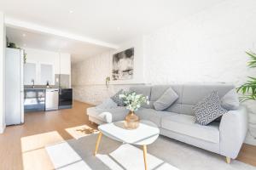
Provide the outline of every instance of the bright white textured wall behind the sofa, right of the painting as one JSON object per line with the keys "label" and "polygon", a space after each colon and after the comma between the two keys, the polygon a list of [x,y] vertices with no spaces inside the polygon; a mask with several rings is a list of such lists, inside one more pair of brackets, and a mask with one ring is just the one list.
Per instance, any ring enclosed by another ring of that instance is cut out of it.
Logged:
{"label": "bright white textured wall behind the sofa, right of the painting", "polygon": [[[256,77],[247,68],[247,50],[256,52],[256,1],[229,0],[180,20],[144,39],[145,80],[175,82],[231,82],[237,86]],[[247,103],[250,133],[256,144],[256,102]]]}

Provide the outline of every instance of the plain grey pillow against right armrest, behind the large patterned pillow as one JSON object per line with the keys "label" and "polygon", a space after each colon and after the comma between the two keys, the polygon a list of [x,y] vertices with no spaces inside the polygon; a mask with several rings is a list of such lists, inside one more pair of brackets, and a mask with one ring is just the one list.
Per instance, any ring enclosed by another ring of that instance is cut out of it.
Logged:
{"label": "plain grey pillow against right armrest, behind the large patterned pillow", "polygon": [[221,105],[229,111],[237,110],[239,108],[239,98],[236,94],[236,89],[231,89],[224,97],[221,99]]}

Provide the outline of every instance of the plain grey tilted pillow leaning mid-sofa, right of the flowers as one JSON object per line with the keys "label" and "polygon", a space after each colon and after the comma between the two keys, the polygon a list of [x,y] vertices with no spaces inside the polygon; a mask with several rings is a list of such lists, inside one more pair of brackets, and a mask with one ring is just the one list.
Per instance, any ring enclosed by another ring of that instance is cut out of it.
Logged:
{"label": "plain grey tilted pillow leaning mid-sofa, right of the flowers", "polygon": [[160,98],[154,102],[154,109],[156,111],[163,111],[170,105],[172,105],[177,98],[178,95],[176,94],[176,92],[172,90],[172,88],[168,88],[166,92],[162,94]]}

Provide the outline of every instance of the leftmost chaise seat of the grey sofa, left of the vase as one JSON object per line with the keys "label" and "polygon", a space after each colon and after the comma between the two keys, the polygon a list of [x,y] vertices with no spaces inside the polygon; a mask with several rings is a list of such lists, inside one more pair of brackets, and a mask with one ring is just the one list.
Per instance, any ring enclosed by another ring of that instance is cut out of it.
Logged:
{"label": "leftmost chaise seat of the grey sofa, left of the vase", "polygon": [[125,119],[128,114],[128,110],[125,107],[117,107],[113,109],[100,109],[96,107],[90,107],[87,109],[87,115],[92,116],[102,122],[117,122]]}

